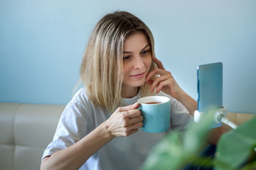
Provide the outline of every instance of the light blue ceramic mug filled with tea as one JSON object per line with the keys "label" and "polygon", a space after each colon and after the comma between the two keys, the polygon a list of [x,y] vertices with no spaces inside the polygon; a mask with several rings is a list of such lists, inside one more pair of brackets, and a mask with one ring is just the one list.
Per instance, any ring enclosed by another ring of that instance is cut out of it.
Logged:
{"label": "light blue ceramic mug filled with tea", "polygon": [[170,127],[170,99],[164,96],[147,96],[138,99],[143,116],[145,132],[158,133],[168,130]]}

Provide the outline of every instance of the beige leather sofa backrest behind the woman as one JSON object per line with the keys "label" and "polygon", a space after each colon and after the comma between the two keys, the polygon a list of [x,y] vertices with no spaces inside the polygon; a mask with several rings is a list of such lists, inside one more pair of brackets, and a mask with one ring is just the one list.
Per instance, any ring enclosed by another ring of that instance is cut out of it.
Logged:
{"label": "beige leather sofa backrest behind the woman", "polygon": [[[40,169],[65,106],[0,103],[0,169]],[[241,124],[255,115],[228,113]]]}

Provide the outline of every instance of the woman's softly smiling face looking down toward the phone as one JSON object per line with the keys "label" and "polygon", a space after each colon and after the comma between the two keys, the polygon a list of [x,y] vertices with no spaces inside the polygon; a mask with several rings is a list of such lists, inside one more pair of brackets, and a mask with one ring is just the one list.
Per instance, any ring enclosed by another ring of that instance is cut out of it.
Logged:
{"label": "woman's softly smiling face looking down toward the phone", "polygon": [[150,69],[152,57],[147,36],[143,32],[135,32],[124,41],[122,88],[140,87]]}

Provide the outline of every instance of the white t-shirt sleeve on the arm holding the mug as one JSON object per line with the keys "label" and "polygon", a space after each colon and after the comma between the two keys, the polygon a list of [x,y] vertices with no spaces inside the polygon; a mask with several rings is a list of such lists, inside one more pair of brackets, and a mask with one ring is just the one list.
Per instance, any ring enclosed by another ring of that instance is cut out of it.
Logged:
{"label": "white t-shirt sleeve on the arm holding the mug", "polygon": [[79,103],[70,102],[63,111],[52,142],[44,151],[44,157],[68,148],[90,132],[90,119]]}

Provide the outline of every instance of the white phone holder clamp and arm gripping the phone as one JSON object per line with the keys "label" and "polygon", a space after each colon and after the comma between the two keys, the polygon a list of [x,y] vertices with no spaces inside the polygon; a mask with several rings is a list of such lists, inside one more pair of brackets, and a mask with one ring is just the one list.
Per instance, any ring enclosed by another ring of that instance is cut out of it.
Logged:
{"label": "white phone holder clamp and arm gripping the phone", "polygon": [[[222,123],[227,124],[230,127],[232,127],[232,129],[236,129],[237,125],[226,118],[227,117],[227,108],[222,107],[222,108],[217,109],[217,110],[211,110],[208,113],[214,115],[213,120],[216,123],[219,124],[219,123],[222,122]],[[203,112],[200,112],[200,111],[196,110],[195,113],[194,113],[194,121],[196,123],[198,123],[201,120],[203,114],[204,114]]]}

